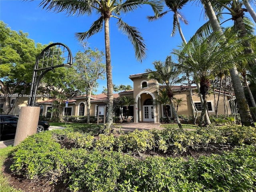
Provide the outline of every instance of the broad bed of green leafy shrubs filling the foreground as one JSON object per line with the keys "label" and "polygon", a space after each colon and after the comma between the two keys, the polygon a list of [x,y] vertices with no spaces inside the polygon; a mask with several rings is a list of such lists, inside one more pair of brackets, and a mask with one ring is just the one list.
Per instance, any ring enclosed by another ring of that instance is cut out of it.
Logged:
{"label": "broad bed of green leafy shrubs filling the foreground", "polygon": [[77,125],[30,136],[14,148],[12,160],[13,174],[64,183],[66,191],[253,192],[256,129],[233,125],[180,132],[176,127],[118,134]]}

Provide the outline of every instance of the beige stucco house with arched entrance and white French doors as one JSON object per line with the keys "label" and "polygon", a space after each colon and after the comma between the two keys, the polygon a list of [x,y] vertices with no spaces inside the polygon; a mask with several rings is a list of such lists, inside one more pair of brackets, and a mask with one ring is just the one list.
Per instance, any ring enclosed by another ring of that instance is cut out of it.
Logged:
{"label": "beige stucco house with arched entrance and white French doors", "polygon": [[[133,90],[123,91],[118,94],[114,94],[114,98],[126,96],[134,98],[135,103],[130,105],[128,116],[133,117],[134,122],[154,122],[159,123],[160,118],[166,117],[166,114],[163,110],[162,104],[155,104],[154,100],[157,98],[158,89],[161,88],[161,85],[158,84],[155,80],[149,80],[145,74],[134,74],[130,75],[129,78],[133,82]],[[190,101],[190,90],[188,86],[172,86],[174,92],[174,97],[182,99],[182,103],[178,106],[178,115],[190,116],[193,114],[193,108],[196,106],[198,109],[199,115],[201,107],[200,98],[197,93],[195,86],[192,86],[192,100],[194,105]],[[216,98],[218,97],[218,90],[215,91]],[[224,100],[225,97],[225,100]],[[215,114],[215,105],[214,105],[214,94],[210,94],[207,97],[208,100],[208,112],[210,115]],[[224,114],[224,102],[225,110],[230,114],[230,105],[228,100],[230,100],[229,94],[220,93],[220,101],[218,105],[218,114]],[[53,108],[53,99],[50,100],[38,100],[38,106],[40,107],[40,115],[46,116],[47,118],[52,117],[52,112],[50,109]],[[86,98],[85,96],[76,96],[68,100],[68,104],[62,109],[62,115],[72,115],[72,116],[87,116],[87,110],[85,105]],[[91,107],[90,107],[90,116],[104,115],[105,106],[104,103],[107,101],[107,94],[98,94],[91,97]],[[24,105],[24,104],[23,104]],[[20,108],[20,106],[19,106]],[[120,113],[123,113],[126,107],[123,106],[123,109],[120,108]],[[14,110],[19,112],[19,110]],[[17,114],[16,114],[17,115]],[[119,114],[120,115],[120,114]],[[170,106],[168,106],[168,115],[172,117],[172,111]]]}

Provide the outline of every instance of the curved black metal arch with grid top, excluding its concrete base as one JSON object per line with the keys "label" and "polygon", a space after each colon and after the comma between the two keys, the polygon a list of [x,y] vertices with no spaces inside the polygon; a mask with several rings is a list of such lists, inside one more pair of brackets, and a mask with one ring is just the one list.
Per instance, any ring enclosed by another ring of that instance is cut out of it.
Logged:
{"label": "curved black metal arch with grid top, excluding its concrete base", "polygon": [[[36,101],[36,92],[38,84],[42,77],[50,70],[58,67],[71,68],[73,57],[68,46],[62,43],[52,43],[48,45],[38,58],[34,65],[32,82],[29,92],[28,106],[34,106]],[[38,76],[38,73],[40,75]]]}

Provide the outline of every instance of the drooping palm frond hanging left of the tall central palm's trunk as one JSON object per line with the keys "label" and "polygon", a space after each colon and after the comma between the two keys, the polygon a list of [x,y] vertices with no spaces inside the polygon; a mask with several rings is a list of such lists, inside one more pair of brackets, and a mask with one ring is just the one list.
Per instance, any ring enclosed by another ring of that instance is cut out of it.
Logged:
{"label": "drooping palm frond hanging left of the tall central palm's trunk", "polygon": [[94,34],[100,32],[102,30],[103,21],[104,21],[103,16],[100,16],[100,18],[98,18],[98,20],[93,22],[92,26],[90,27],[90,29],[88,31],[76,33],[75,37],[81,42],[83,40],[85,40],[86,38],[90,38],[91,36],[93,36]]}

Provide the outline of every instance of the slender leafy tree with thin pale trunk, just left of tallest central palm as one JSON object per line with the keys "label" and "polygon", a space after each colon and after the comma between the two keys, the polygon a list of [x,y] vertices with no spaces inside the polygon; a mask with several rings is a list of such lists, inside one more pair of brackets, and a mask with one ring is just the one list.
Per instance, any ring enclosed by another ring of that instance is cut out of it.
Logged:
{"label": "slender leafy tree with thin pale trunk, just left of tallest central palm", "polygon": [[75,86],[78,90],[86,94],[87,123],[90,123],[90,106],[92,92],[98,87],[97,80],[104,80],[106,74],[106,64],[102,61],[104,53],[98,49],[92,50],[82,44],[84,51],[78,51],[75,56],[73,68]]}

